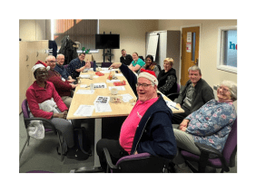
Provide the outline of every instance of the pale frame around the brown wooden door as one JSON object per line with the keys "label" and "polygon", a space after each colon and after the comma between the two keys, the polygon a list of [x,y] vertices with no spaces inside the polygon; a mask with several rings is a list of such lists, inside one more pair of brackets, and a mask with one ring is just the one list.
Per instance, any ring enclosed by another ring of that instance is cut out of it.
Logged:
{"label": "pale frame around the brown wooden door", "polygon": [[182,79],[182,28],[188,28],[188,27],[195,27],[195,26],[199,26],[200,27],[200,33],[199,33],[199,51],[198,51],[198,67],[200,68],[200,63],[201,63],[201,56],[200,56],[200,53],[201,53],[201,34],[202,34],[202,24],[189,24],[189,25],[182,25],[181,26],[181,44],[180,44],[180,53],[181,53],[181,57],[180,57],[180,79],[178,80],[178,83],[181,84],[181,79]]}

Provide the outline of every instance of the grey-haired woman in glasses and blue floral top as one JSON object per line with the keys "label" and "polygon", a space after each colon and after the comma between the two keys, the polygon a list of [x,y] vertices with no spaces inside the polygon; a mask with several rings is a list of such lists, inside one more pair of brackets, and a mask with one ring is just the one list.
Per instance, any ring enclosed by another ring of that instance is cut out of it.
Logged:
{"label": "grey-haired woman in glasses and blue floral top", "polygon": [[217,89],[217,97],[218,101],[208,101],[182,120],[180,130],[173,129],[178,146],[177,156],[173,158],[176,172],[191,172],[180,154],[180,149],[200,155],[201,152],[194,142],[204,143],[222,152],[231,125],[236,120],[236,110],[232,102],[237,100],[237,84],[222,82]]}

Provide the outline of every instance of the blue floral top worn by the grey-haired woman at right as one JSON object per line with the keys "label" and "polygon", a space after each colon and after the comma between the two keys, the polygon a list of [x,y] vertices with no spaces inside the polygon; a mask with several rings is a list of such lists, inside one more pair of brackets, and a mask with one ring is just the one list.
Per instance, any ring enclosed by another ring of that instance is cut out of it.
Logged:
{"label": "blue floral top worn by the grey-haired woman at right", "polygon": [[185,119],[190,120],[186,132],[192,134],[195,142],[204,143],[222,152],[236,120],[236,110],[232,102],[211,100]]}

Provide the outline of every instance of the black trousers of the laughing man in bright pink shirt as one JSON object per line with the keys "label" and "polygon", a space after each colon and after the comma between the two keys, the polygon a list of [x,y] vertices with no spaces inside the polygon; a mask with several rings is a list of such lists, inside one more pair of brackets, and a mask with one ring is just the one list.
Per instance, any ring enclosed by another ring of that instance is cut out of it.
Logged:
{"label": "black trousers of the laughing man in bright pink shirt", "polygon": [[119,140],[100,139],[97,142],[96,151],[97,151],[97,155],[100,158],[101,167],[103,168],[103,170],[105,172],[106,172],[106,168],[107,168],[107,163],[104,158],[103,148],[108,149],[108,151],[110,153],[110,157],[113,162],[113,165],[116,164],[116,162],[119,160],[119,158],[123,158],[124,156],[129,155],[128,152],[120,146]]}

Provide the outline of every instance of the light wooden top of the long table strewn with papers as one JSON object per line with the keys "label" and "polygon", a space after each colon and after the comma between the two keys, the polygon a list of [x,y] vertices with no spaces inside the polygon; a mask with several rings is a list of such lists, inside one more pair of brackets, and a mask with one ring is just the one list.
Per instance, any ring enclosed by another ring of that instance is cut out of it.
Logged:
{"label": "light wooden top of the long table strewn with papers", "polygon": [[[94,74],[94,76],[97,76],[95,72],[81,72],[80,76],[86,75],[86,74]],[[122,72],[119,72],[118,74],[122,74]],[[123,74],[122,74],[123,75]],[[109,90],[109,86],[114,86],[113,82],[107,82],[107,77],[109,76],[109,72],[104,73],[103,76],[99,76],[98,78],[93,78],[93,80],[90,79],[81,79],[81,83],[75,88],[74,91],[74,97],[70,106],[70,109],[67,114],[67,120],[74,120],[74,119],[98,119],[98,118],[105,118],[105,117],[118,117],[118,116],[128,116],[133,109],[133,103],[136,102],[137,98],[133,93],[132,88],[130,87],[129,83],[127,82],[126,78],[124,76],[117,76],[117,79],[126,82],[126,85],[124,85],[125,91],[118,91],[117,95],[113,95],[111,91]],[[101,89],[94,89],[94,94],[78,94],[76,93],[79,90],[90,90],[90,84],[91,83],[105,83],[107,85],[107,88],[101,88]],[[81,85],[88,85],[89,87],[84,88],[81,87]],[[133,101],[129,102],[121,102],[121,103],[112,103],[109,102],[110,107],[112,111],[109,112],[95,112],[95,109],[93,111],[92,116],[74,116],[74,112],[79,108],[80,105],[94,105],[94,101],[96,100],[97,96],[120,96],[121,94],[127,94],[129,93],[133,97]],[[162,95],[163,99],[166,101],[170,101],[166,96]],[[181,108],[179,110],[173,109],[173,113],[179,113],[183,112]]]}

